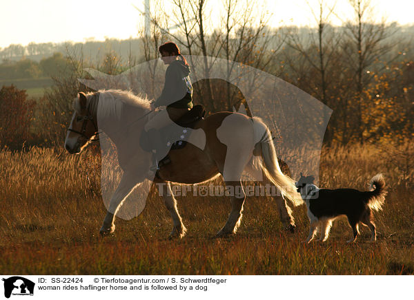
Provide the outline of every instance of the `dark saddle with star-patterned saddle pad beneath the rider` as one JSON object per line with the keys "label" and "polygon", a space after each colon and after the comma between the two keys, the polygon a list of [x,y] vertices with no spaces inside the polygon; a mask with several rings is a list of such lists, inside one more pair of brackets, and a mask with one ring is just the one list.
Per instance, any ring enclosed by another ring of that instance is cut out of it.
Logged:
{"label": "dark saddle with star-patterned saddle pad beneath the rider", "polygon": [[141,133],[139,144],[144,151],[148,152],[152,151],[152,149],[157,149],[157,153],[168,153],[169,150],[182,149],[187,144],[186,140],[190,136],[191,129],[195,128],[199,120],[204,120],[204,116],[206,116],[206,110],[203,105],[195,105],[184,116],[175,121],[174,124],[159,130],[161,145],[152,144],[151,132],[146,132],[145,130]]}

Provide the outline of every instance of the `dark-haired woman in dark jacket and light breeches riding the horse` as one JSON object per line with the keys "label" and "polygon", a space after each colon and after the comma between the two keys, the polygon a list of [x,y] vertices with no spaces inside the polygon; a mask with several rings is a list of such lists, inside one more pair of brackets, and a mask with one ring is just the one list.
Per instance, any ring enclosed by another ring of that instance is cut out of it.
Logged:
{"label": "dark-haired woman in dark jacket and light breeches riding the horse", "polygon": [[166,127],[184,116],[193,107],[193,86],[190,81],[190,67],[186,58],[181,55],[178,46],[175,43],[168,42],[159,46],[161,60],[168,65],[166,70],[166,79],[161,96],[151,103],[151,109],[165,106],[166,109],[160,108],[157,114],[151,118],[145,125],[144,129],[148,132],[154,155],[154,165],[151,169],[158,169],[158,161],[164,158],[167,153],[159,153],[164,149],[161,144],[159,129]]}

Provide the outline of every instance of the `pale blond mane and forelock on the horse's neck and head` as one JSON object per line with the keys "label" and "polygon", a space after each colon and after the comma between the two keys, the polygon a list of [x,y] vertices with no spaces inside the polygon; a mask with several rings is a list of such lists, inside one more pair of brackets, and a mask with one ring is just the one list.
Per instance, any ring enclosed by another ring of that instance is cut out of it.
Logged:
{"label": "pale blond mane and forelock on the horse's neck and head", "polygon": [[[95,92],[86,94],[88,100],[86,107],[89,108],[92,114],[97,114],[99,107],[99,116],[103,118],[112,116],[120,119],[124,105],[141,107],[144,110],[150,109],[148,98],[141,98],[131,91],[122,91],[121,89],[99,89],[98,92],[99,97],[97,97],[97,93]],[[79,103],[79,97],[73,100],[72,106],[75,111],[80,113],[81,105]]]}

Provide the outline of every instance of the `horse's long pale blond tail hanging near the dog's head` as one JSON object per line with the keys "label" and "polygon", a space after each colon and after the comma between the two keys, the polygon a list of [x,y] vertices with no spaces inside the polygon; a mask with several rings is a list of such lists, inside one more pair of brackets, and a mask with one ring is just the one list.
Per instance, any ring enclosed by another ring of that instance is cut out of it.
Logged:
{"label": "horse's long pale blond tail hanging near the dog's head", "polygon": [[253,118],[253,128],[255,131],[255,154],[261,150],[263,158],[262,169],[270,182],[275,184],[277,189],[286,196],[293,205],[298,206],[303,204],[300,194],[297,193],[295,181],[288,175],[284,175],[277,162],[275,146],[273,145],[273,138],[270,130],[264,124],[262,119]]}

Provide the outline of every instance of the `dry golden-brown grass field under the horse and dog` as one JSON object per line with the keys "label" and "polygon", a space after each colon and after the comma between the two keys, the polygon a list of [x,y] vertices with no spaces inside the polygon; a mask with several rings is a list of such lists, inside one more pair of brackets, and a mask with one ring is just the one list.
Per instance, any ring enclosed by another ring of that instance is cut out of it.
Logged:
{"label": "dry golden-brown grass field under the horse and dog", "polygon": [[[99,157],[86,151],[32,148],[0,152],[0,273],[21,275],[406,275],[414,274],[413,170],[373,145],[324,149],[320,186],[367,189],[384,173],[388,196],[375,213],[378,239],[368,228],[347,244],[351,228],[335,222],[328,242],[303,244],[305,206],[294,209],[297,232],[284,231],[270,197],[246,200],[237,235],[215,239],[230,203],[220,197],[178,197],[188,228],[167,239],[170,215],[155,190],[144,212],[117,219],[116,235],[98,231],[106,209],[99,197]],[[86,169],[92,171],[86,173]],[[87,176],[88,175],[88,176]],[[410,181],[411,180],[411,181]]]}

